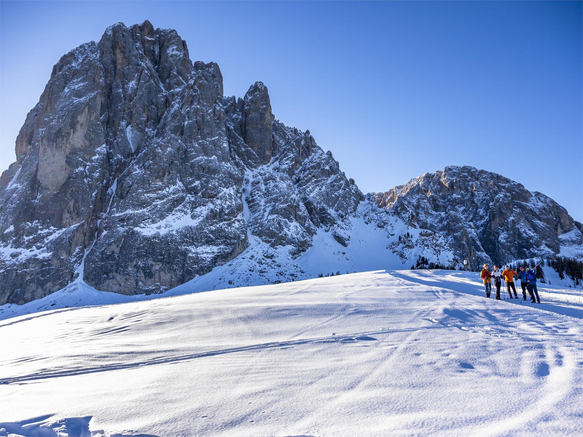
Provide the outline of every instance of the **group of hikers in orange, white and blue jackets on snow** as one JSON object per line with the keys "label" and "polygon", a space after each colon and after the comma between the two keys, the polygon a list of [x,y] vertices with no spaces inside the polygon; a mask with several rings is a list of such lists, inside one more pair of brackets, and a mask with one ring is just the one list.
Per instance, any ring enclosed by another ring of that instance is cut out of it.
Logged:
{"label": "group of hikers in orange, white and blue jackets on snow", "polygon": [[502,285],[502,279],[504,279],[510,299],[512,299],[512,292],[510,289],[514,291],[514,298],[518,299],[518,294],[514,286],[514,278],[518,278],[520,279],[520,285],[522,286],[522,299],[526,300],[526,291],[528,291],[531,302],[540,303],[539,291],[536,288],[536,267],[521,267],[520,271],[517,273],[509,268],[508,265],[504,266],[504,271],[500,271],[497,265],[494,265],[494,270],[490,271],[488,264],[484,264],[480,277],[482,278],[482,281],[484,281],[487,298],[489,298],[492,293],[492,281],[494,281],[494,286],[496,286],[496,299],[500,299],[500,286]]}

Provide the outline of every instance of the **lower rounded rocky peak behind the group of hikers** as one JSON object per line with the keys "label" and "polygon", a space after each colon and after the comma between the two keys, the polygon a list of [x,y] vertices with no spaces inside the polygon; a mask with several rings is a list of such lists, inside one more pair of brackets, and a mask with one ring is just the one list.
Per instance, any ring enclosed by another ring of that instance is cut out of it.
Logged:
{"label": "lower rounded rocky peak behind the group of hikers", "polygon": [[583,225],[557,202],[474,167],[448,166],[370,197],[410,226],[443,235],[456,258],[475,269],[583,245]]}

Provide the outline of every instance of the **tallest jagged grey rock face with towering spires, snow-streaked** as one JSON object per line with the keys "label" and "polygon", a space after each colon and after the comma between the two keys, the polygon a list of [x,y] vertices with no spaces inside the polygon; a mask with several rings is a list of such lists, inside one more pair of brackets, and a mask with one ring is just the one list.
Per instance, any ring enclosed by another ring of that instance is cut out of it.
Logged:
{"label": "tallest jagged grey rock face with towering spires, snow-streaked", "polygon": [[147,21],[59,60],[16,155],[0,181],[0,304],[78,278],[172,288],[241,253],[250,225],[301,253],[364,198],[309,132],[274,121],[263,83],[224,97],[218,65]]}

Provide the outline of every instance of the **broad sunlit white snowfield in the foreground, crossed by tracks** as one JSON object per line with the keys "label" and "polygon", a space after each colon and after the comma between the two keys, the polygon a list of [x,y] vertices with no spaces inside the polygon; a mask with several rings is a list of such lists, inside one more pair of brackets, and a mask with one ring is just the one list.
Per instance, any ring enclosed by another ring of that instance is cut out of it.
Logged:
{"label": "broad sunlit white snowfield in the foreground, crossed by tracks", "polygon": [[0,322],[0,427],[581,435],[583,296],[541,298],[380,270],[19,316]]}

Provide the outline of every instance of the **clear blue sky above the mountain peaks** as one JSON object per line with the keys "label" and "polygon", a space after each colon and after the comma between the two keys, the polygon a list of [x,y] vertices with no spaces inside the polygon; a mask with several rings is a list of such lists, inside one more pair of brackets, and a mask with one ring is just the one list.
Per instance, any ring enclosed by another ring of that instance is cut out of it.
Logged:
{"label": "clear blue sky above the mountain peaks", "polygon": [[446,165],[491,170],[583,221],[581,2],[8,2],[0,4],[0,169],[52,65],[107,26],[173,28],[255,81],[361,190]]}

